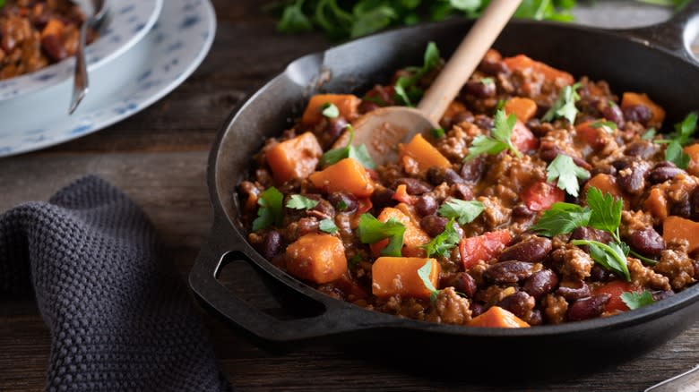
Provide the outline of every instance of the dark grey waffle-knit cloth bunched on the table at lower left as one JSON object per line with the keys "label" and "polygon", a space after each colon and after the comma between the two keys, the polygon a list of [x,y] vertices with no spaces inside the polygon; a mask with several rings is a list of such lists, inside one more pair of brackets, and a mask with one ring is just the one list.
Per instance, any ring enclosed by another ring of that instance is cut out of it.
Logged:
{"label": "dark grey waffle-knit cloth bunched on the table at lower left", "polygon": [[47,390],[229,390],[172,269],[142,211],[95,176],[0,216],[0,293],[33,287]]}

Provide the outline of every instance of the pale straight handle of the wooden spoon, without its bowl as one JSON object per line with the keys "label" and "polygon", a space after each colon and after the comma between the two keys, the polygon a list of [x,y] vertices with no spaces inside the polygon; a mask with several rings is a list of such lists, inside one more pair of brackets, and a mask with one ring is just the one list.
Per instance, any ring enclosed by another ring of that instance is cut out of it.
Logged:
{"label": "pale straight handle of the wooden spoon, without its bowl", "polygon": [[430,121],[439,123],[446,108],[453,98],[456,98],[463,84],[469,80],[471,73],[476,70],[483,55],[493,45],[520,3],[521,0],[491,1],[483,15],[470,28],[469,34],[463,38],[452,58],[444,65],[444,70],[439,73],[418,105],[418,109],[427,115]]}

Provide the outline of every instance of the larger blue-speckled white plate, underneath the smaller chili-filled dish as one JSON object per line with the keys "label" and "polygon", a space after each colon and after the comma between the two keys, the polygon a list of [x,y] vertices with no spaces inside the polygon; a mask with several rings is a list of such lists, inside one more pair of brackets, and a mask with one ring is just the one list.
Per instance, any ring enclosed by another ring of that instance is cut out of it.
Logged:
{"label": "larger blue-speckled white plate, underneath the smaller chili-filled dish", "polygon": [[186,80],[209,52],[216,17],[208,0],[168,0],[137,45],[91,72],[91,91],[68,115],[61,83],[0,104],[0,157],[96,132],[141,111]]}

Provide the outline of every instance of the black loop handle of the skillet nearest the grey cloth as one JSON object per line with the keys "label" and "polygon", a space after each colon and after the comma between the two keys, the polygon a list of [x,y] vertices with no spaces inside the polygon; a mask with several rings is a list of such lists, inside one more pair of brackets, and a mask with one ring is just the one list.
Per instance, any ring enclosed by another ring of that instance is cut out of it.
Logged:
{"label": "black loop handle of the skillet nearest the grey cloth", "polygon": [[[393,319],[397,319],[383,313],[362,310],[355,305],[334,300],[329,296],[320,294],[320,292],[315,292],[317,295],[312,298],[301,290],[305,285],[285,274],[287,279],[275,279],[274,284],[286,285],[286,288],[296,292],[291,294],[300,294],[303,299],[318,303],[321,305],[319,307],[323,309],[321,314],[296,320],[279,320],[260,311],[230,292],[216,278],[220,268],[224,265],[224,257],[227,255],[233,260],[246,261],[265,274],[264,268],[258,265],[255,258],[250,257],[253,250],[247,243],[239,242],[236,244],[230,241],[237,238],[237,233],[232,232],[228,223],[221,225],[214,222],[210,243],[204,245],[189,274],[189,285],[205,307],[245,329],[253,336],[273,343],[290,343],[385,327],[393,324],[395,322]],[[227,241],[217,239],[227,239]],[[232,246],[230,243],[233,243]],[[231,252],[232,254],[229,254]],[[270,279],[274,279],[274,277],[270,277]]]}

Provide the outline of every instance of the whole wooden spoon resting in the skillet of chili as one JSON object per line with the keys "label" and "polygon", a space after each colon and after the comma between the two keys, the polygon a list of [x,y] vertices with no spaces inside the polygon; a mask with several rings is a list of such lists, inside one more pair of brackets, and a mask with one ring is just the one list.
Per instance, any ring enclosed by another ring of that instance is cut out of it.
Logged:
{"label": "whole wooden spoon resting in the skillet of chili", "polygon": [[[521,0],[491,1],[444,65],[444,70],[427,89],[418,107],[382,107],[361,116],[354,124],[353,144],[366,144],[371,158],[377,165],[383,165],[398,158],[398,143],[410,141],[417,133],[439,128],[444,111],[469,80],[520,3]],[[349,136],[343,136],[341,140],[346,143]]]}

